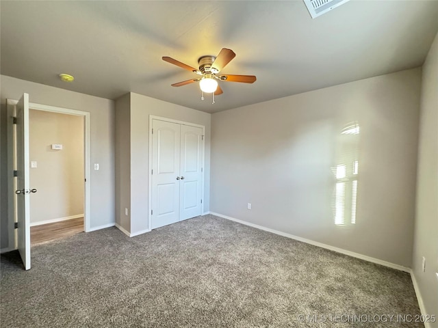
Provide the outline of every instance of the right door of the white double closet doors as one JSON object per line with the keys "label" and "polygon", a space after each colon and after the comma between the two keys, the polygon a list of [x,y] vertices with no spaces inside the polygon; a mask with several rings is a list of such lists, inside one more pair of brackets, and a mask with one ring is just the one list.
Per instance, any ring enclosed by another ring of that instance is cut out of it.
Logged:
{"label": "right door of the white double closet doors", "polygon": [[179,220],[201,215],[203,129],[181,125],[181,169],[179,174]]}

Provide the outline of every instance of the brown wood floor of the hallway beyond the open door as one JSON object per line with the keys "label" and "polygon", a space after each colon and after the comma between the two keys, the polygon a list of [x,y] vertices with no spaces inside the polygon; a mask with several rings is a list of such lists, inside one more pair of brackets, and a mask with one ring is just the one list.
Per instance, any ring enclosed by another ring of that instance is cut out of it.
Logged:
{"label": "brown wood floor of the hallway beyond the open door", "polygon": [[83,232],[83,217],[61,222],[42,224],[30,228],[31,245],[52,241]]}

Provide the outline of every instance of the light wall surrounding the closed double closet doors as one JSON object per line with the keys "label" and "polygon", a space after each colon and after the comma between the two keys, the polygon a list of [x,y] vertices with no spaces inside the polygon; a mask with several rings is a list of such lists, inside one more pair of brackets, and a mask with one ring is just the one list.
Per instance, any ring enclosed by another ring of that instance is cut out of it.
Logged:
{"label": "light wall surrounding the closed double closet doors", "polygon": [[[118,105],[117,101],[117,105]],[[123,111],[120,103],[117,111]],[[209,211],[209,188],[210,188],[210,129],[211,114],[196,111],[187,107],[164,102],[140,94],[130,94],[130,230],[131,234],[137,234],[149,229],[149,115],[162,116],[173,120],[181,120],[205,126],[205,194],[204,210]],[[129,145],[119,145],[129,147]],[[121,172],[120,175],[125,174]],[[123,206],[120,206],[121,208]],[[124,208],[123,208],[124,210]],[[122,210],[120,210],[120,213]],[[124,214],[120,214],[124,215]]]}

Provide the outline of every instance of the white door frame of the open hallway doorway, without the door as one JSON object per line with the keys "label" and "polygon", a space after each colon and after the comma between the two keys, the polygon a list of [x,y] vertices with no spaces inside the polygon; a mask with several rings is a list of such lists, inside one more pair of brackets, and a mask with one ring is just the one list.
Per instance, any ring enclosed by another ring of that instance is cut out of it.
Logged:
{"label": "white door frame of the open hallway doorway, without the door", "polygon": [[[8,99],[8,106],[15,106],[18,100]],[[88,111],[78,111],[76,109],[68,109],[64,107],[56,107],[50,105],[36,104],[35,102],[29,102],[29,109],[35,109],[37,111],[50,111],[52,113],[61,113],[68,115],[76,115],[83,117],[83,173],[84,173],[84,194],[83,194],[83,230],[85,232],[90,232],[91,228],[91,216],[90,216],[90,205],[91,205],[91,175],[90,175],[90,112]],[[9,111],[8,111],[9,118]],[[12,123],[12,122],[11,122]],[[8,123],[9,125],[9,123]],[[9,157],[9,156],[8,156]],[[10,161],[8,161],[10,162]],[[9,164],[8,164],[9,167]],[[12,172],[8,170],[8,172]],[[12,189],[8,187],[8,209],[12,206],[12,211],[14,210],[14,198],[10,193]],[[10,213],[10,211],[9,211]],[[11,218],[10,218],[11,220]],[[12,221],[13,221],[12,217]],[[11,223],[14,226],[14,223]],[[15,236],[15,232],[14,232]],[[16,249],[16,238],[14,238],[14,249]]]}

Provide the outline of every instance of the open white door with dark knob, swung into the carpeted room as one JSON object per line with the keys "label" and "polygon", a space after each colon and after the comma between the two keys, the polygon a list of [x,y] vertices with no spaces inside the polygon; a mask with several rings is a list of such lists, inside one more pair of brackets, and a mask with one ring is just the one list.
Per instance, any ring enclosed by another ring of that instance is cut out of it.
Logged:
{"label": "open white door with dark knob, swung into the carpeted room", "polygon": [[16,215],[17,244],[26,270],[30,269],[30,195],[29,186],[29,95],[23,97],[16,105]]}

